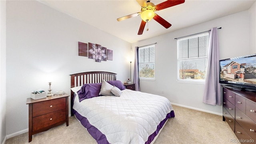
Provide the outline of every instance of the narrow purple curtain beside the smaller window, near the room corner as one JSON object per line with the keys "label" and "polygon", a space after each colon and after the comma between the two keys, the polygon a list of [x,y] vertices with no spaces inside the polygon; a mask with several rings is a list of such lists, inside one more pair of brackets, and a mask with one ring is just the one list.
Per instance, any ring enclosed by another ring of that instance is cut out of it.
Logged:
{"label": "narrow purple curtain beside the smaller window, near the room corner", "polygon": [[139,68],[138,68],[138,47],[134,50],[134,77],[133,82],[135,84],[135,90],[140,91],[140,81],[139,81]]}

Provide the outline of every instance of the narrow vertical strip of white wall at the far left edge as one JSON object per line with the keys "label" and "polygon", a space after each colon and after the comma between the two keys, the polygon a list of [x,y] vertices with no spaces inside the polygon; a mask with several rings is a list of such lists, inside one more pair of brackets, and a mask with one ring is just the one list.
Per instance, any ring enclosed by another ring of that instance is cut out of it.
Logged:
{"label": "narrow vertical strip of white wall at the far left edge", "polygon": [[6,136],[6,1],[0,0],[0,143]]}

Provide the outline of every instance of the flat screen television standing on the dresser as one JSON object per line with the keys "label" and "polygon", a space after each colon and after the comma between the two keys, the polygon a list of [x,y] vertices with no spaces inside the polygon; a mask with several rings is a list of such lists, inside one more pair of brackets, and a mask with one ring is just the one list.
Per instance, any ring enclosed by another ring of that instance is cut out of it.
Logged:
{"label": "flat screen television standing on the dresser", "polygon": [[256,54],[220,60],[220,83],[238,90],[256,90]]}

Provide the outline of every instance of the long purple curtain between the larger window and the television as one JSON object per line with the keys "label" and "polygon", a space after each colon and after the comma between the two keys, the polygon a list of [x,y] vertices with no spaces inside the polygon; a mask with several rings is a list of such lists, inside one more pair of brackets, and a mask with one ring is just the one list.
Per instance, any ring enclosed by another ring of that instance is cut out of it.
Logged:
{"label": "long purple curtain between the larger window and the television", "polygon": [[204,103],[221,106],[221,87],[219,83],[219,42],[217,27],[212,28],[209,35],[207,70],[204,87]]}

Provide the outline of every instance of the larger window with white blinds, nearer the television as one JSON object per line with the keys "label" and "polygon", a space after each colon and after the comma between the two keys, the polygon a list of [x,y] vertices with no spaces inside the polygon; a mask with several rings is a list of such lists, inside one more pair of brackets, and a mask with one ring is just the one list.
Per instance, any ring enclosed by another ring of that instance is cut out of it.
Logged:
{"label": "larger window with white blinds, nearer the television", "polygon": [[207,32],[178,39],[178,80],[192,82],[205,80],[208,35]]}

